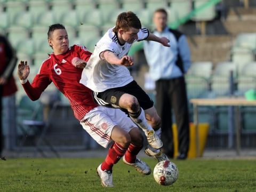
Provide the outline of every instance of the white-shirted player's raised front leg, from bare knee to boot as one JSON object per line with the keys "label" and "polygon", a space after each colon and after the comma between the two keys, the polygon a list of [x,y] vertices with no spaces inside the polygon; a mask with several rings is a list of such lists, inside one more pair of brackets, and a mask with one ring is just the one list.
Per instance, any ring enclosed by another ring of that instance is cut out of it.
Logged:
{"label": "white-shirted player's raised front leg, from bare knee to boot", "polygon": [[159,139],[158,135],[155,134],[153,128],[148,124],[144,110],[140,107],[137,98],[125,93],[119,99],[119,107],[127,109],[132,121],[145,132],[148,143],[151,147],[155,149],[163,147],[162,141]]}

